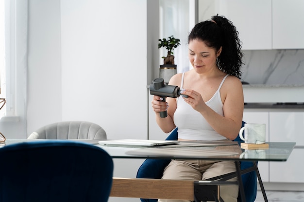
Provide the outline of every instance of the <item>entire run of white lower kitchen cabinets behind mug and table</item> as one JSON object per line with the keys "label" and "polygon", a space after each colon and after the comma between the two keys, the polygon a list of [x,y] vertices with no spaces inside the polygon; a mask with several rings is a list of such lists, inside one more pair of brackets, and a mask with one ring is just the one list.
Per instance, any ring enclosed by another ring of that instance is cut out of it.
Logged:
{"label": "entire run of white lower kitchen cabinets behind mug and table", "polygon": [[[271,111],[245,109],[247,123],[266,123],[266,141],[296,142],[286,162],[258,162],[263,182],[304,183],[304,111]],[[268,167],[264,164],[268,164]],[[263,168],[262,168],[263,166]],[[268,177],[268,181],[265,180]]]}

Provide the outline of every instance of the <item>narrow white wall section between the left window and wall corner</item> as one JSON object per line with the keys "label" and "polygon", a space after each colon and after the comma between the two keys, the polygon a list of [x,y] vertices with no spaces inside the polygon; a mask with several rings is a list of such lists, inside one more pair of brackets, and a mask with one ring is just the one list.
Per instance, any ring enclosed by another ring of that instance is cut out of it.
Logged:
{"label": "narrow white wall section between the left window and wall corner", "polygon": [[29,0],[27,135],[62,120],[60,0]]}

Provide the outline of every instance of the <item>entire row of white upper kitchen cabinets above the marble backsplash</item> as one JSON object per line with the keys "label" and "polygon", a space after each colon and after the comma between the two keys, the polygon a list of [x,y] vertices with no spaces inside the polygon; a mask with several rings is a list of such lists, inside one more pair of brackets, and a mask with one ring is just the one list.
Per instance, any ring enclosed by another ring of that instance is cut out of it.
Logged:
{"label": "entire row of white upper kitchen cabinets above the marble backsplash", "polygon": [[242,50],[304,48],[303,0],[199,0],[199,21],[219,14],[239,31]]}

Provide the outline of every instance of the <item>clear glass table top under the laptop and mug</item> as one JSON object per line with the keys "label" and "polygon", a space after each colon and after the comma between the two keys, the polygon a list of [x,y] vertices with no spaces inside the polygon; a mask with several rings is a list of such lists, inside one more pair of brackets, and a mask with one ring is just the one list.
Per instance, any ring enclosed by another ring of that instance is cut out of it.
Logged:
{"label": "clear glass table top under the laptop and mug", "polygon": [[[5,145],[26,141],[8,139]],[[53,141],[53,140],[52,140]],[[60,140],[58,140],[60,141]],[[67,141],[67,140],[65,140]],[[287,161],[295,142],[266,142],[268,148],[242,149],[238,142],[227,141],[181,141],[168,146],[104,146],[98,140],[68,140],[94,144],[104,149],[113,158],[158,158],[158,159],[205,159],[205,160],[238,160],[238,161]]]}

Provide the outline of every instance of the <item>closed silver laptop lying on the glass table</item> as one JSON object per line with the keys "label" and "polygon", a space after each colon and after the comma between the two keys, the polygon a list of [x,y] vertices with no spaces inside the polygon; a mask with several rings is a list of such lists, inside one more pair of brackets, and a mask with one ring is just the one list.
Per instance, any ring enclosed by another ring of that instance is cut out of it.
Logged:
{"label": "closed silver laptop lying on the glass table", "polygon": [[161,145],[171,145],[178,144],[177,140],[135,140],[135,139],[125,139],[125,140],[101,140],[98,141],[100,144],[104,144],[107,146],[126,146],[126,145],[134,145],[134,146],[161,146]]}

